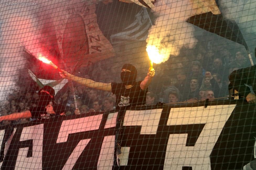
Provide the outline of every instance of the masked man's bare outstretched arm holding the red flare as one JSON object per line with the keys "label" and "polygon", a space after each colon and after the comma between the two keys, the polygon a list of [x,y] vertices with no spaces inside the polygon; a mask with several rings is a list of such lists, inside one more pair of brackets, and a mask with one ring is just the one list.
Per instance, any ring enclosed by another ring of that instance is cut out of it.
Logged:
{"label": "masked man's bare outstretched arm holding the red flare", "polygon": [[60,72],[60,76],[65,79],[71,79],[79,84],[85,85],[89,88],[94,88],[98,90],[104,90],[104,91],[111,91],[111,83],[99,83],[95,82],[91,79],[81,78],[77,77],[75,75],[69,74],[68,72],[62,70],[62,73]]}

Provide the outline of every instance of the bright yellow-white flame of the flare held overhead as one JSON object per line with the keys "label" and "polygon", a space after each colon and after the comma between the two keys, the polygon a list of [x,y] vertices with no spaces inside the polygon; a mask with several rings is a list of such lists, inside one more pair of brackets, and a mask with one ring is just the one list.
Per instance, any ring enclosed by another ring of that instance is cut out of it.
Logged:
{"label": "bright yellow-white flame of the flare held overhead", "polygon": [[165,54],[160,54],[159,49],[155,45],[147,45],[146,51],[150,61],[156,64],[164,62]]}

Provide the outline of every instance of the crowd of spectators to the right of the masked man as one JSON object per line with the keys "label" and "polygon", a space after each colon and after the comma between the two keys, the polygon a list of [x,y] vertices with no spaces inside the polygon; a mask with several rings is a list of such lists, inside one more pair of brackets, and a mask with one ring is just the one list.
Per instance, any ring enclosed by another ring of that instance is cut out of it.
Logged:
{"label": "crowd of spectators to the right of the masked man", "polygon": [[201,54],[175,58],[175,64],[167,65],[168,68],[158,67],[149,86],[147,104],[227,98],[232,93],[228,76],[249,66],[249,58],[240,51],[230,57],[208,54],[207,58]]}

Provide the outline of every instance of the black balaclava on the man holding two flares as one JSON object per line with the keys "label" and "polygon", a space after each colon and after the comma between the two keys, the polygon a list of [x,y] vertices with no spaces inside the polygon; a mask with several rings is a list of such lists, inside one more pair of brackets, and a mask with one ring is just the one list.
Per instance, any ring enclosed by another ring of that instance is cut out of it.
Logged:
{"label": "black balaclava on the man holding two flares", "polygon": [[134,85],[137,78],[137,69],[131,64],[125,64],[122,69],[130,70],[131,72],[121,72],[121,80],[124,85]]}

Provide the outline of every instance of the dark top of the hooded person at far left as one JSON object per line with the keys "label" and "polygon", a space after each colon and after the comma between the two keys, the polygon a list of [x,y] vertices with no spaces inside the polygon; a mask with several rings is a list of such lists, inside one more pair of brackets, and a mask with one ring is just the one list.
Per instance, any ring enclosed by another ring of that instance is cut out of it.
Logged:
{"label": "dark top of the hooded person at far left", "polygon": [[[55,112],[55,114],[51,114],[51,116],[57,116],[60,115],[61,113],[65,112],[65,107],[63,105],[57,105],[55,103],[52,104],[53,106],[53,110]],[[45,109],[45,106],[36,106],[36,107],[30,107],[29,109],[31,115],[32,115],[32,119],[36,118],[36,119],[46,119],[47,117],[47,112]]]}

